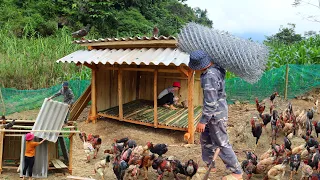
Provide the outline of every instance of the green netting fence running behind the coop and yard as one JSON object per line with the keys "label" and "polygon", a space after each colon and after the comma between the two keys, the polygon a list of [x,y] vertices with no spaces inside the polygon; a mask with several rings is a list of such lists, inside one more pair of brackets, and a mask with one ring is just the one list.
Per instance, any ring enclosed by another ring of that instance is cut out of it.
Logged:
{"label": "green netting fence running behind the coop and yard", "polygon": [[[240,78],[226,80],[228,103],[235,100],[253,102],[255,97],[263,99],[278,91],[283,97],[285,89],[286,66],[271,69],[255,84],[249,84]],[[75,97],[79,98],[89,86],[89,80],[70,81]],[[320,65],[289,65],[288,98],[302,95],[313,88],[320,87]],[[46,89],[17,90],[2,88],[6,115],[40,108],[44,98],[53,95],[61,88],[61,84]],[[59,97],[58,100],[62,100]],[[2,113],[3,107],[0,106]]]}

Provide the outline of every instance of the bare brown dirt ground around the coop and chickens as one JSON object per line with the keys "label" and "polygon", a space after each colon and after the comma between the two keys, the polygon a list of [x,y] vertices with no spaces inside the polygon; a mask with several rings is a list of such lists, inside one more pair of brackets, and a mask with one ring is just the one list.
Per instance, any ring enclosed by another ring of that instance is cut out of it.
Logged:
{"label": "bare brown dirt ground around the coop and chickens", "polygon": [[[320,91],[314,90],[311,93],[308,93],[304,97],[313,97],[314,99],[319,99]],[[291,100],[293,104],[294,111],[296,109],[309,109],[313,106],[313,101],[307,101],[302,99],[293,99]],[[283,110],[288,102],[283,101],[279,98],[276,99],[276,109]],[[266,103],[269,104],[269,101]],[[269,111],[269,106],[266,107],[266,111]],[[35,119],[37,116],[38,110],[27,111],[22,113],[15,113],[9,118],[23,118],[23,119]],[[82,148],[82,142],[78,136],[75,136],[74,147],[73,147],[73,175],[82,176],[82,177],[91,177],[98,179],[94,175],[94,164],[103,158],[103,150],[109,149],[114,138],[129,137],[136,140],[138,145],[145,145],[147,142],[153,143],[166,143],[169,145],[169,151],[166,156],[174,156],[182,162],[185,162],[189,159],[193,159],[199,163],[200,166],[203,166],[201,161],[201,148],[199,145],[199,133],[196,133],[196,144],[186,145],[183,140],[184,132],[164,130],[164,129],[154,129],[150,127],[134,125],[125,122],[119,122],[116,120],[99,120],[96,124],[86,124],[84,120],[88,114],[88,109],[86,109],[78,119],[78,129],[86,133],[99,134],[102,138],[102,151],[98,154],[98,159],[93,159],[90,163],[86,163],[86,157]],[[257,111],[254,104],[245,104],[245,103],[236,103],[229,106],[229,121],[228,121],[228,133],[230,137],[230,143],[232,144],[238,160],[240,163],[245,159],[243,150],[252,150],[255,144],[255,138],[251,133],[250,119],[253,116],[257,116]],[[316,114],[316,121],[320,120],[320,115]],[[267,127],[269,132],[263,131],[262,137],[259,140],[260,144],[256,149],[256,154],[258,157],[265,151],[270,148],[270,125]],[[277,139],[278,144],[283,143],[283,135]],[[294,137],[292,140],[293,147],[296,147],[303,143],[303,139],[299,137]],[[229,172],[226,171],[223,162],[218,158],[217,160],[217,173],[211,174],[210,179],[221,179],[224,175],[227,175]],[[289,168],[287,167],[286,175],[284,179],[289,179],[288,175],[290,174]],[[49,172],[48,179],[66,179],[66,176],[57,176],[55,172]],[[149,179],[154,180],[157,178],[155,171],[151,168],[149,169]],[[246,177],[246,175],[244,175]],[[300,179],[301,173],[295,176],[294,179]],[[1,179],[19,179],[19,175],[14,171],[4,171],[0,175]],[[105,179],[116,179],[113,175],[112,168],[106,170]],[[143,179],[140,176],[139,179]],[[170,176],[165,176],[164,179],[174,179],[172,174]],[[185,179],[181,176],[181,179]],[[197,178],[194,178],[197,179]],[[252,179],[258,180],[263,179],[263,175],[253,175]]]}

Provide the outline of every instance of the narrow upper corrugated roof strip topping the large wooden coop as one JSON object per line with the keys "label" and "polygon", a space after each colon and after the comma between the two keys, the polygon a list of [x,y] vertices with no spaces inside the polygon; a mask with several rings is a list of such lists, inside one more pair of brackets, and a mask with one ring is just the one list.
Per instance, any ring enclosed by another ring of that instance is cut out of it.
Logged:
{"label": "narrow upper corrugated roof strip topping the large wooden coop", "polygon": [[83,44],[83,43],[97,43],[97,42],[112,42],[112,41],[149,41],[149,40],[176,40],[174,36],[159,36],[159,37],[127,37],[127,38],[99,38],[93,40],[76,40],[73,41],[75,44]]}

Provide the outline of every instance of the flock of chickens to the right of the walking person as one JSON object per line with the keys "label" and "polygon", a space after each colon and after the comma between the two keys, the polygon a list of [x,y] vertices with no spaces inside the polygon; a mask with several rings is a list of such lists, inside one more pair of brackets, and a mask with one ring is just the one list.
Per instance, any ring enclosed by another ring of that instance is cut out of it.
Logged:
{"label": "flock of chickens to the right of the walking person", "polygon": [[[275,110],[274,99],[278,93],[274,93],[270,97],[270,113],[264,113],[265,102],[259,102],[256,98],[256,108],[259,117],[252,118],[250,121],[252,135],[256,138],[256,146],[258,146],[262,129],[268,133],[266,126],[270,123],[272,130],[272,141],[270,149],[263,153],[259,160],[257,155],[250,151],[244,151],[246,160],[241,164],[243,171],[250,179],[253,174],[262,174],[264,179],[285,179],[284,175],[286,167],[290,167],[290,180],[297,171],[301,169],[301,179],[320,179],[320,154],[319,143],[312,136],[313,130],[316,136],[320,133],[320,122],[314,120],[314,114],[317,113],[318,100],[314,103],[314,107],[308,110],[293,111],[292,104],[282,112]],[[261,119],[261,120],[258,120]],[[313,128],[314,127],[314,128]],[[277,144],[276,140],[280,132],[284,133],[283,143]],[[291,147],[290,139],[293,136],[301,137],[305,143],[297,147]]]}

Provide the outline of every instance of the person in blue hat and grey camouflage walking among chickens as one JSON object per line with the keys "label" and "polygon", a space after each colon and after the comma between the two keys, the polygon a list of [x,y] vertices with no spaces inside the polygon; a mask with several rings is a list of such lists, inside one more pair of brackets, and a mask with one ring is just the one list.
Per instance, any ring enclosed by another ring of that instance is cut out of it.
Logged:
{"label": "person in blue hat and grey camouflage walking among chickens", "polygon": [[[219,157],[232,172],[223,177],[223,180],[242,179],[241,166],[227,133],[228,104],[224,80],[226,71],[219,65],[212,64],[212,59],[202,50],[190,54],[189,67],[202,72],[200,79],[203,88],[203,110],[197,125],[197,130],[201,132],[202,160],[209,167],[215,150],[220,148]],[[211,170],[215,171],[215,168]]]}

